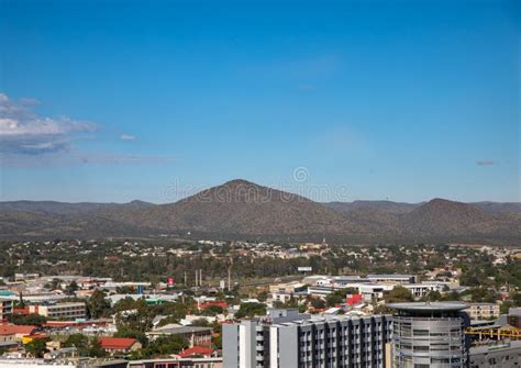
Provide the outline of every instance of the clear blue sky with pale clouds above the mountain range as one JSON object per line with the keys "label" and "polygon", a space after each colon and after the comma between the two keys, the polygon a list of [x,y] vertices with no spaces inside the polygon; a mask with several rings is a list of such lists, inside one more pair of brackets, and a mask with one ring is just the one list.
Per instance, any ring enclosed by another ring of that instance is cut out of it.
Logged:
{"label": "clear blue sky with pale clouds above the mountain range", "polygon": [[0,7],[1,200],[521,201],[517,1]]}

